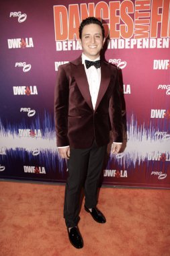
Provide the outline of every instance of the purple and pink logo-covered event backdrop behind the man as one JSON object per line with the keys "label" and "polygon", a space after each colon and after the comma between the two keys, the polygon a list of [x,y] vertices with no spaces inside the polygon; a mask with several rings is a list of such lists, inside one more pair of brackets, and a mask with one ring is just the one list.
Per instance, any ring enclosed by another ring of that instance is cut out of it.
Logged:
{"label": "purple and pink logo-covered event backdrop behind the man", "polygon": [[108,36],[105,60],[122,71],[126,102],[124,151],[108,149],[103,184],[170,188],[169,9],[170,0],[1,0],[1,179],[65,183],[54,129],[56,75],[81,55],[79,24],[95,16]]}

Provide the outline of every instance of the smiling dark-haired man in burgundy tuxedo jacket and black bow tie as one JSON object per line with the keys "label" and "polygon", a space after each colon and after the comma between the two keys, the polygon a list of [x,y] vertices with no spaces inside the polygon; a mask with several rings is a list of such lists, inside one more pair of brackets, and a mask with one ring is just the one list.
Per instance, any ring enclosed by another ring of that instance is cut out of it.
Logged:
{"label": "smiling dark-haired man in burgundy tuxedo jacket and black bow tie", "polygon": [[58,68],[55,120],[58,152],[68,159],[64,217],[71,244],[83,247],[79,222],[79,199],[85,188],[85,211],[99,223],[105,217],[97,209],[97,188],[103,158],[114,135],[112,153],[122,146],[122,116],[118,70],[100,61],[105,42],[99,20],[89,17],[79,27],[81,57]]}

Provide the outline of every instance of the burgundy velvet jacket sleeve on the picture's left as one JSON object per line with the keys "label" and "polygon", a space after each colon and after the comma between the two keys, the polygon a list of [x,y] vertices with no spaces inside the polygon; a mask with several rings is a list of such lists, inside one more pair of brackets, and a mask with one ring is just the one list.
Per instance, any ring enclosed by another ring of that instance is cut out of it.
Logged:
{"label": "burgundy velvet jacket sleeve on the picture's left", "polygon": [[56,127],[56,145],[69,146],[68,132],[69,81],[65,68],[58,67],[54,92],[54,118]]}

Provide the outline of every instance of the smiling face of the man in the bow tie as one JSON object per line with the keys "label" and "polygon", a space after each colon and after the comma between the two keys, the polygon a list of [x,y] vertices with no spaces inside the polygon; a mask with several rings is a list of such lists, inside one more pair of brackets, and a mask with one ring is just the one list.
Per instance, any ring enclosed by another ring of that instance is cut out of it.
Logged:
{"label": "smiling face of the man in the bow tie", "polygon": [[81,46],[83,53],[89,59],[96,59],[103,47],[105,38],[102,36],[101,27],[97,24],[89,24],[84,26],[81,35]]}

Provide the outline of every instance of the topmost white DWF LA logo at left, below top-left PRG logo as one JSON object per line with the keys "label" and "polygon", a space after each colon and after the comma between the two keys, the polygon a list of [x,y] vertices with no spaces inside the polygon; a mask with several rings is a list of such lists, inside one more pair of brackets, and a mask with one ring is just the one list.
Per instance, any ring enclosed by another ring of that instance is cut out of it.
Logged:
{"label": "topmost white DWF LA logo at left, below top-left PRG logo", "polygon": [[9,49],[34,47],[32,37],[7,39]]}

